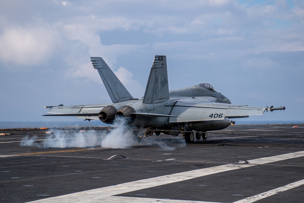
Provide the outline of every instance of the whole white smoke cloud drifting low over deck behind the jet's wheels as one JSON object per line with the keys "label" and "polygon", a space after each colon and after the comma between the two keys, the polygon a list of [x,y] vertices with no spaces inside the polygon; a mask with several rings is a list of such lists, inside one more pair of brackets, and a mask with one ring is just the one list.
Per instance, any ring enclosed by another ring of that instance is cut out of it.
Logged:
{"label": "whole white smoke cloud drifting low over deck behind the jet's wheels", "polygon": [[[46,138],[37,136],[22,138],[21,146],[34,146],[41,148],[66,148],[66,147],[93,147],[102,146],[112,149],[126,149],[138,145],[158,145],[161,151],[172,151],[176,147],[186,146],[182,137],[159,140],[155,136],[142,138],[142,142],[133,140],[132,132],[127,129],[126,118],[117,119],[116,125],[109,133],[100,133],[95,130],[52,130]],[[172,144],[172,145],[168,145]]]}

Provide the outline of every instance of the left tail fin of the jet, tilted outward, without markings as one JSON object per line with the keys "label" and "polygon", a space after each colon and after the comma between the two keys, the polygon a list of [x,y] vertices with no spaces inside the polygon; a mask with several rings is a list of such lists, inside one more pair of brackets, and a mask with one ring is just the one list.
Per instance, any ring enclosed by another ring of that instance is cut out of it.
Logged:
{"label": "left tail fin of the jet, tilted outward, without markings", "polygon": [[94,68],[98,70],[113,103],[133,98],[101,57],[90,58]]}

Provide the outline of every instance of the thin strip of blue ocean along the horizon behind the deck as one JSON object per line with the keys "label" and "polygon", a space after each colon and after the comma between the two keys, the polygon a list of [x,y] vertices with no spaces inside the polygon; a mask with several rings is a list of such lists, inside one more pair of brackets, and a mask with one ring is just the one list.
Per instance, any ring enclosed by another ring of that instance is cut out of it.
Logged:
{"label": "thin strip of blue ocean along the horizon behind the deck", "polygon": [[[235,124],[298,124],[304,121],[247,121],[235,119]],[[91,121],[0,121],[0,128],[54,128],[54,127],[80,127],[80,126],[111,126],[99,120]]]}

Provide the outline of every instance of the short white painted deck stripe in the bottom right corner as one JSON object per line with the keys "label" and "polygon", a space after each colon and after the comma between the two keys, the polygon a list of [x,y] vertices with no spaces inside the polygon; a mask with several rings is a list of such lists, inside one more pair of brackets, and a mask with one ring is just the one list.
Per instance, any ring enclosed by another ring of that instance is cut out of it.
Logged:
{"label": "short white painted deck stripe in the bottom right corner", "polygon": [[294,182],[294,183],[291,183],[291,184],[287,184],[285,186],[278,187],[278,188],[275,188],[275,189],[267,191],[267,192],[263,192],[263,193],[260,193],[260,194],[257,194],[257,195],[245,198],[245,199],[241,199],[239,201],[235,201],[233,203],[251,203],[251,202],[255,202],[255,201],[267,198],[267,197],[269,197],[271,195],[278,194],[280,192],[284,192],[286,190],[290,190],[290,189],[295,188],[295,187],[299,187],[299,186],[301,186],[303,184],[304,184],[304,180],[299,180],[297,182]]}

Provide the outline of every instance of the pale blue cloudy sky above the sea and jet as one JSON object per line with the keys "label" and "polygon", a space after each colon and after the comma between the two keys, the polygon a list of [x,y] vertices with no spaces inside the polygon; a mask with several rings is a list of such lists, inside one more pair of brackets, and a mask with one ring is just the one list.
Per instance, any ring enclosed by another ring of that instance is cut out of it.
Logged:
{"label": "pale blue cloudy sky above the sea and jet", "polygon": [[209,82],[233,104],[286,107],[246,119],[304,120],[302,0],[2,0],[0,121],[74,121],[43,107],[110,103],[90,57],[140,98],[155,55],[169,89]]}

